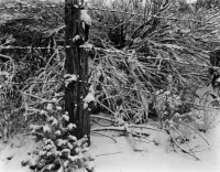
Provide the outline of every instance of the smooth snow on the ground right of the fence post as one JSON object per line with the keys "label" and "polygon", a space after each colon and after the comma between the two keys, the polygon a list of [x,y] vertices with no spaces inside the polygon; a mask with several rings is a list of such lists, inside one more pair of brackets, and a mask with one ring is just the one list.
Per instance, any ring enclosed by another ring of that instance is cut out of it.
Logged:
{"label": "smooth snow on the ground right of the fence post", "polygon": [[[118,143],[103,137],[94,137],[91,152],[96,158],[96,172],[219,172],[220,126],[207,135],[210,150],[202,151],[195,160],[183,152],[168,150],[166,136],[156,133],[161,144],[142,143],[143,151],[134,152],[130,141],[117,137]],[[140,142],[138,143],[140,146]]]}

